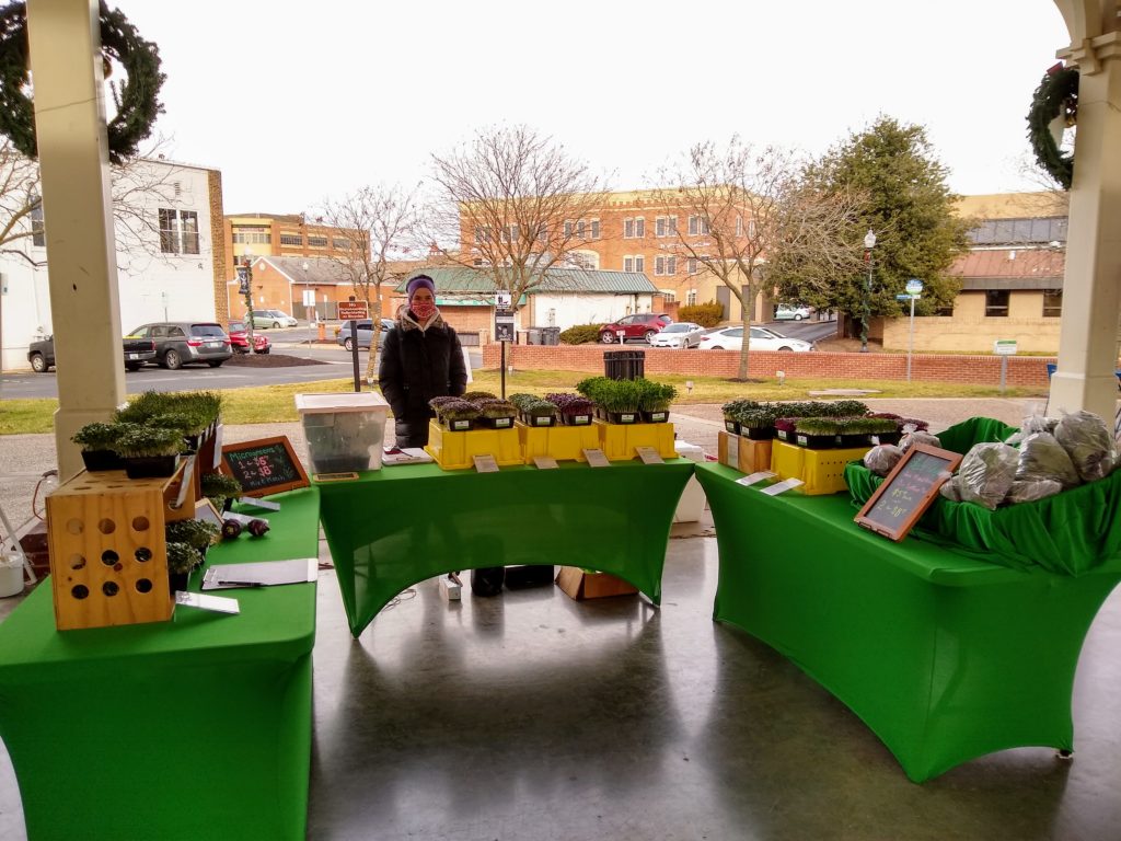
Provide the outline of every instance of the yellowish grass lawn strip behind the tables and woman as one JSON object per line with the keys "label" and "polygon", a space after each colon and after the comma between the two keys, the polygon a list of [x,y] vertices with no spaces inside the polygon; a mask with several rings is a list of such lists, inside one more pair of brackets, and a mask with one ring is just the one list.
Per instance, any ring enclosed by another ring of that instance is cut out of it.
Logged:
{"label": "yellowish grass lawn strip behind the tables and woman", "polygon": [[[474,371],[472,391],[498,394],[498,370]],[[573,387],[591,375],[582,371],[516,371],[507,376],[506,392],[518,391],[544,395],[548,391],[572,391]],[[693,403],[728,403],[736,398],[757,400],[804,400],[810,391],[833,388],[861,388],[877,394],[867,397],[1032,397],[1043,396],[1040,389],[1008,388],[1003,392],[995,386],[971,386],[954,382],[904,382],[897,380],[819,380],[787,379],[779,386],[771,378],[762,382],[730,382],[720,377],[685,377],[665,375],[651,377],[659,382],[677,387],[677,405]],[[692,390],[685,382],[692,380]],[[260,388],[234,388],[221,391],[222,419],[228,424],[266,424],[297,420],[293,395],[298,392],[350,391],[352,379],[321,380]],[[56,399],[3,400],[0,404],[0,435],[50,432],[54,428]]]}

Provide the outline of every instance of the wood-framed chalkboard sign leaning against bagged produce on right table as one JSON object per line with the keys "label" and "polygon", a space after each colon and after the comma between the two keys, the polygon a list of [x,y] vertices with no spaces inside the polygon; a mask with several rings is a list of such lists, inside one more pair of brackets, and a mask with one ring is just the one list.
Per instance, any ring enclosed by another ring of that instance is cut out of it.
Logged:
{"label": "wood-framed chalkboard sign leaning against bagged produce on right table", "polygon": [[860,509],[856,523],[892,540],[904,539],[961,461],[948,450],[915,444]]}

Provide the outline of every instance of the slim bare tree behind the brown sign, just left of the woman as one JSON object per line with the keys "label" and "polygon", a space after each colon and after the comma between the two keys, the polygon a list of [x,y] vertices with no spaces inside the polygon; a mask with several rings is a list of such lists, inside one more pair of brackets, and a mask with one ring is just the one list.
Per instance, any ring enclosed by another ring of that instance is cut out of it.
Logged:
{"label": "slim bare tree behind the brown sign, just left of the woman", "polygon": [[354,294],[365,302],[373,321],[367,381],[377,377],[377,348],[381,334],[381,288],[404,279],[397,261],[414,247],[417,229],[416,190],[400,185],[365,186],[337,202],[327,202],[324,220],[337,229],[334,234],[346,243],[345,251],[331,259]]}

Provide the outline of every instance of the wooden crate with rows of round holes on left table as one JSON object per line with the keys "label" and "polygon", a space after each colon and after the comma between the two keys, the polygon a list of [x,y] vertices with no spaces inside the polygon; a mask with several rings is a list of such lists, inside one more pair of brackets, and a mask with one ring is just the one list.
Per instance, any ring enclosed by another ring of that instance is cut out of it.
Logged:
{"label": "wooden crate with rows of round holes on left table", "polygon": [[172,618],[164,526],[194,516],[193,500],[172,507],[183,481],[183,465],[168,479],[82,472],[50,492],[47,539],[58,630]]}

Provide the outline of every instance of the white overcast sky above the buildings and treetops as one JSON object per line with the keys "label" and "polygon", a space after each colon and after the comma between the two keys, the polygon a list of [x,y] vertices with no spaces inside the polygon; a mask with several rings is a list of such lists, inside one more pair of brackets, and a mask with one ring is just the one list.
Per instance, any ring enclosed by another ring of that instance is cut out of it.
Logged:
{"label": "white overcast sky above the buildings and treetops", "polygon": [[1025,115],[1068,43],[1050,0],[111,4],[159,45],[165,154],[221,169],[226,213],[415,183],[497,123],[631,190],[700,140],[817,155],[883,113],[927,127],[956,192],[1038,188]]}

